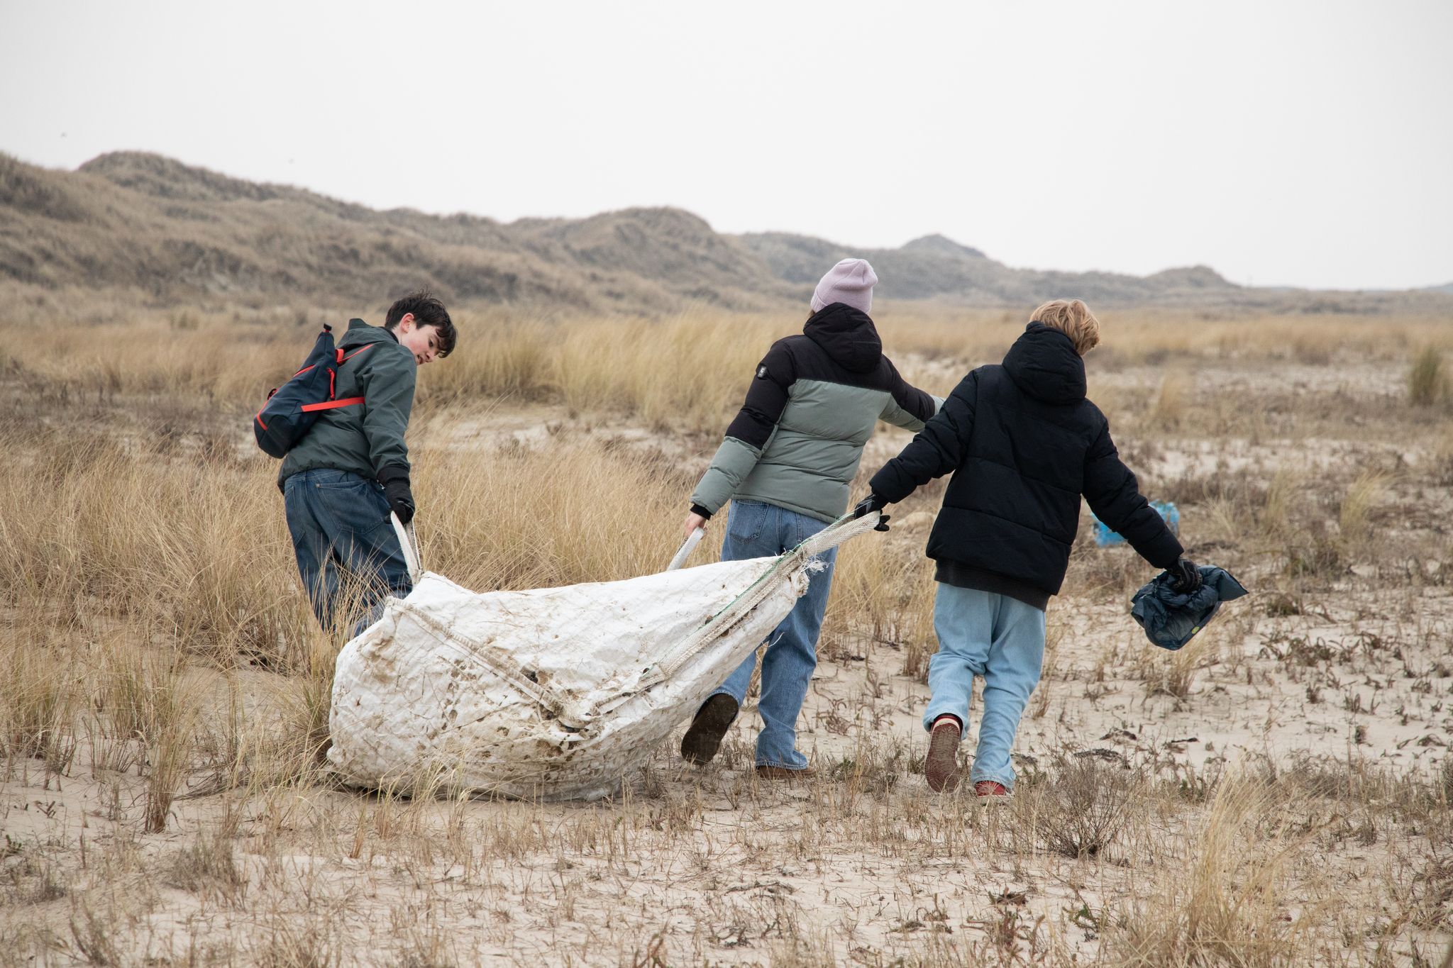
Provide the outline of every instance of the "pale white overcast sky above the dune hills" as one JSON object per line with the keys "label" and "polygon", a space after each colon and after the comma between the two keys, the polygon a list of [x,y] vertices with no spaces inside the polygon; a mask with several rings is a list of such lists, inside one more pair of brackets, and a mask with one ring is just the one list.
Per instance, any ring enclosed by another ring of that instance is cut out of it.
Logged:
{"label": "pale white overcast sky above the dune hills", "polygon": [[0,149],[378,208],[1453,282],[1453,3],[0,0]]}

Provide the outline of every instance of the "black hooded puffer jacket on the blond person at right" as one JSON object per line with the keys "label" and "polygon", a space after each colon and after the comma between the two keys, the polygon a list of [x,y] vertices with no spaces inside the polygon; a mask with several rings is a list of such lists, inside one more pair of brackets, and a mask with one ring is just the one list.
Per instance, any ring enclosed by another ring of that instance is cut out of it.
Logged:
{"label": "black hooded puffer jacket on the blond person at right", "polygon": [[1003,366],[959,382],[939,414],[873,475],[889,502],[953,472],[928,557],[939,581],[1040,608],[1059,592],[1080,527],[1080,495],[1141,556],[1168,567],[1180,541],[1120,463],[1110,424],[1085,399],[1084,360],[1069,337],[1029,324]]}

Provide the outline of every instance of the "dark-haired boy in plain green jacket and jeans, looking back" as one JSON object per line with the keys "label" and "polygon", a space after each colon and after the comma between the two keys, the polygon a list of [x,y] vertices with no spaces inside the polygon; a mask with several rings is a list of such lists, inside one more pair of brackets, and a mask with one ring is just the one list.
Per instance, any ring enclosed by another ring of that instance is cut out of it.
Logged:
{"label": "dark-haired boy in plain green jacket and jeans, looking back", "polygon": [[[413,588],[388,515],[404,524],[414,517],[404,444],[414,379],[420,366],[449,356],[455,335],[449,312],[426,292],[397,300],[382,327],[350,319],[339,341],[344,363],[334,398],[363,402],[323,411],[283,456],[278,486],[288,533],[312,611],[327,630],[352,624],[357,634],[386,595],[402,598]],[[356,615],[339,614],[344,575],[360,582]]]}

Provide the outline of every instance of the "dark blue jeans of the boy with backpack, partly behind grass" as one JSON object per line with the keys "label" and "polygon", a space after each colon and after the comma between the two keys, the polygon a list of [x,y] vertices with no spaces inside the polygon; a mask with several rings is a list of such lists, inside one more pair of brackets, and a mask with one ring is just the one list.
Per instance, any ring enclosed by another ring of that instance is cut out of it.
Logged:
{"label": "dark blue jeans of the boy with backpack, partly behind grass", "polygon": [[[382,614],[384,598],[413,591],[381,483],[347,470],[304,470],[283,482],[282,493],[298,575],[325,630],[352,618],[356,636]],[[359,598],[349,605],[357,611],[340,615],[355,581]]]}

